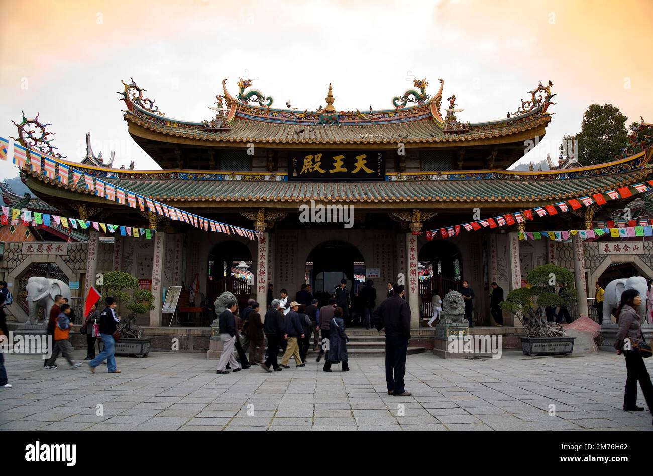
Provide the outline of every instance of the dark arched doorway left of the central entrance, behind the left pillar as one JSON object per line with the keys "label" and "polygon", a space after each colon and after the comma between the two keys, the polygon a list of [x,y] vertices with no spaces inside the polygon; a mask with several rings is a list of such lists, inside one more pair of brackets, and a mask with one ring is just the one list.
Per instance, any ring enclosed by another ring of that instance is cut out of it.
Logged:
{"label": "dark arched doorway left of the central entrance, behind the left pillar", "polygon": [[243,309],[251,296],[254,285],[252,259],[249,248],[235,240],[221,242],[208,255],[206,297],[209,302],[225,291],[236,296],[238,306]]}

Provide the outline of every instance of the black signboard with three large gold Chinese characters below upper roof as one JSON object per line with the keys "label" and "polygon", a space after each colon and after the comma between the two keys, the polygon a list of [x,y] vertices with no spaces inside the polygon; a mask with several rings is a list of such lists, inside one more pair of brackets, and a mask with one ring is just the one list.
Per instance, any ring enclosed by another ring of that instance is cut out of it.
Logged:
{"label": "black signboard with three large gold Chinese characters below upper roof", "polygon": [[288,180],[291,182],[383,182],[382,151],[290,151]]}

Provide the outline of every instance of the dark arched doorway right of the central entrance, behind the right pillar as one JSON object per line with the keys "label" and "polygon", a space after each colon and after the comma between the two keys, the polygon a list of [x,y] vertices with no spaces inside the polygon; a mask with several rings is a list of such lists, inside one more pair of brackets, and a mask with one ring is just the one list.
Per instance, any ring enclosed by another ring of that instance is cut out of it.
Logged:
{"label": "dark arched doorway right of the central entrance, behind the right pillar", "polygon": [[444,298],[449,291],[462,287],[462,257],[460,250],[447,240],[433,240],[422,247],[418,256],[420,315],[433,315],[433,296]]}

